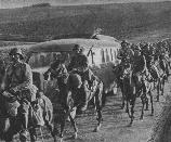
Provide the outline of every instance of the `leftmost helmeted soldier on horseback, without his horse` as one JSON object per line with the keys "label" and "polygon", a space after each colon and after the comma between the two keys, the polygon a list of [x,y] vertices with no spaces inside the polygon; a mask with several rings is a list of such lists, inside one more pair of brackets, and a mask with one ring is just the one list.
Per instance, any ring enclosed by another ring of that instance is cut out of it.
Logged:
{"label": "leftmost helmeted soldier on horseback, without his horse", "polygon": [[24,62],[22,50],[14,48],[9,55],[11,64],[6,69],[6,90],[19,99],[21,137],[26,139],[29,103],[36,100],[38,89],[32,85],[32,72],[30,66]]}

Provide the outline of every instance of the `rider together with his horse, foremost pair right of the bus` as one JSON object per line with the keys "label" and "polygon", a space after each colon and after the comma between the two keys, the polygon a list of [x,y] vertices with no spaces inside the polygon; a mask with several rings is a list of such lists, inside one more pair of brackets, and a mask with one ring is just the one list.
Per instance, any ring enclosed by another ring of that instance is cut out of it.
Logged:
{"label": "rider together with his horse, foremost pair right of the bus", "polygon": [[[134,49],[134,55],[132,56],[131,67],[126,68],[123,72],[123,96],[127,102],[127,109],[129,117],[131,118],[130,125],[132,125],[134,119],[134,106],[136,98],[141,98],[142,100],[142,114],[141,119],[144,116],[144,106],[146,104],[146,108],[148,108],[148,99],[147,94],[150,96],[150,102],[153,102],[152,98],[152,86],[148,81],[147,68],[146,68],[146,60],[145,56],[141,53],[141,48],[139,46]],[[129,111],[129,105],[131,105],[131,115]],[[152,103],[152,114],[154,113],[153,103]]]}

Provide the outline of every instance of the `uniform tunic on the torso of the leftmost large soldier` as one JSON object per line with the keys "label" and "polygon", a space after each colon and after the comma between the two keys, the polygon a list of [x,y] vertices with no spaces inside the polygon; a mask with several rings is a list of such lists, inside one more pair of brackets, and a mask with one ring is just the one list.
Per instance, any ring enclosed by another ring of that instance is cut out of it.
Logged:
{"label": "uniform tunic on the torso of the leftmost large soldier", "polygon": [[36,95],[32,93],[35,91],[32,72],[28,64],[11,64],[6,69],[6,85],[9,89],[15,88],[16,91],[29,90],[30,93],[26,95],[27,101],[32,102],[36,100]]}

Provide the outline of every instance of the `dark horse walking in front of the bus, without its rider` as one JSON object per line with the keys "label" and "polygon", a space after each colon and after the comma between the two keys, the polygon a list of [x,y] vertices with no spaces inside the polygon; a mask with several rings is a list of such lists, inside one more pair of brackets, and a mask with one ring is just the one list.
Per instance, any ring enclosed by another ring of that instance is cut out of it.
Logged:
{"label": "dark horse walking in front of the bus, without its rider", "polygon": [[[58,67],[58,66],[56,66]],[[62,70],[62,69],[56,69],[56,70]],[[78,111],[80,107],[80,102],[81,102],[81,93],[87,93],[88,98],[87,101],[90,102],[91,100],[94,101],[96,114],[97,114],[97,126],[93,130],[94,132],[98,131],[101,128],[102,124],[102,99],[103,99],[103,82],[95,80],[93,89],[90,90],[83,90],[82,86],[84,86],[81,82],[81,76],[77,72],[70,72],[66,73],[65,77],[61,76],[61,73],[54,72],[54,69],[48,69],[44,73],[44,79],[57,79],[57,86],[60,88],[60,102],[63,106],[63,112],[64,115],[62,115],[62,121],[61,121],[61,133],[60,138],[63,139],[63,131],[65,127],[65,120],[67,117],[69,117],[70,122],[74,127],[75,133],[74,138],[77,139],[77,133],[78,133],[78,128],[76,126],[76,118],[75,115],[73,115],[74,111]],[[87,86],[87,85],[86,85]]]}

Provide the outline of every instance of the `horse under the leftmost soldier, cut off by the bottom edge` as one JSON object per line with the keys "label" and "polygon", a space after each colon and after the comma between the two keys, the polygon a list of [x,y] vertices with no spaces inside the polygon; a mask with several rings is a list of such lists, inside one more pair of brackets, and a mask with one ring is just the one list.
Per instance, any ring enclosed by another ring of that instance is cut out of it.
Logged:
{"label": "horse under the leftmost soldier, cut off by the bottom edge", "polygon": [[[22,130],[19,116],[17,115],[19,103],[18,98],[10,93],[10,91],[9,93],[6,93],[6,95],[3,94],[5,90],[5,67],[0,67],[0,139],[4,140],[5,142],[12,142],[14,135],[19,133]],[[8,90],[5,90],[5,92],[8,92]],[[36,142],[37,140],[37,128],[40,128],[41,130],[42,126],[47,126],[55,142],[56,137],[54,130],[52,103],[45,95],[43,95],[39,91],[37,92],[37,100],[35,102],[31,102],[29,106],[28,132],[30,134],[30,141]],[[36,113],[34,111],[36,107],[34,106],[39,106],[39,111],[42,112],[40,115],[42,116],[42,124],[37,124],[35,121],[36,119],[34,119],[35,116],[32,115],[32,113]],[[26,139],[23,139],[22,137],[19,137],[19,140],[22,142],[26,142]]]}

